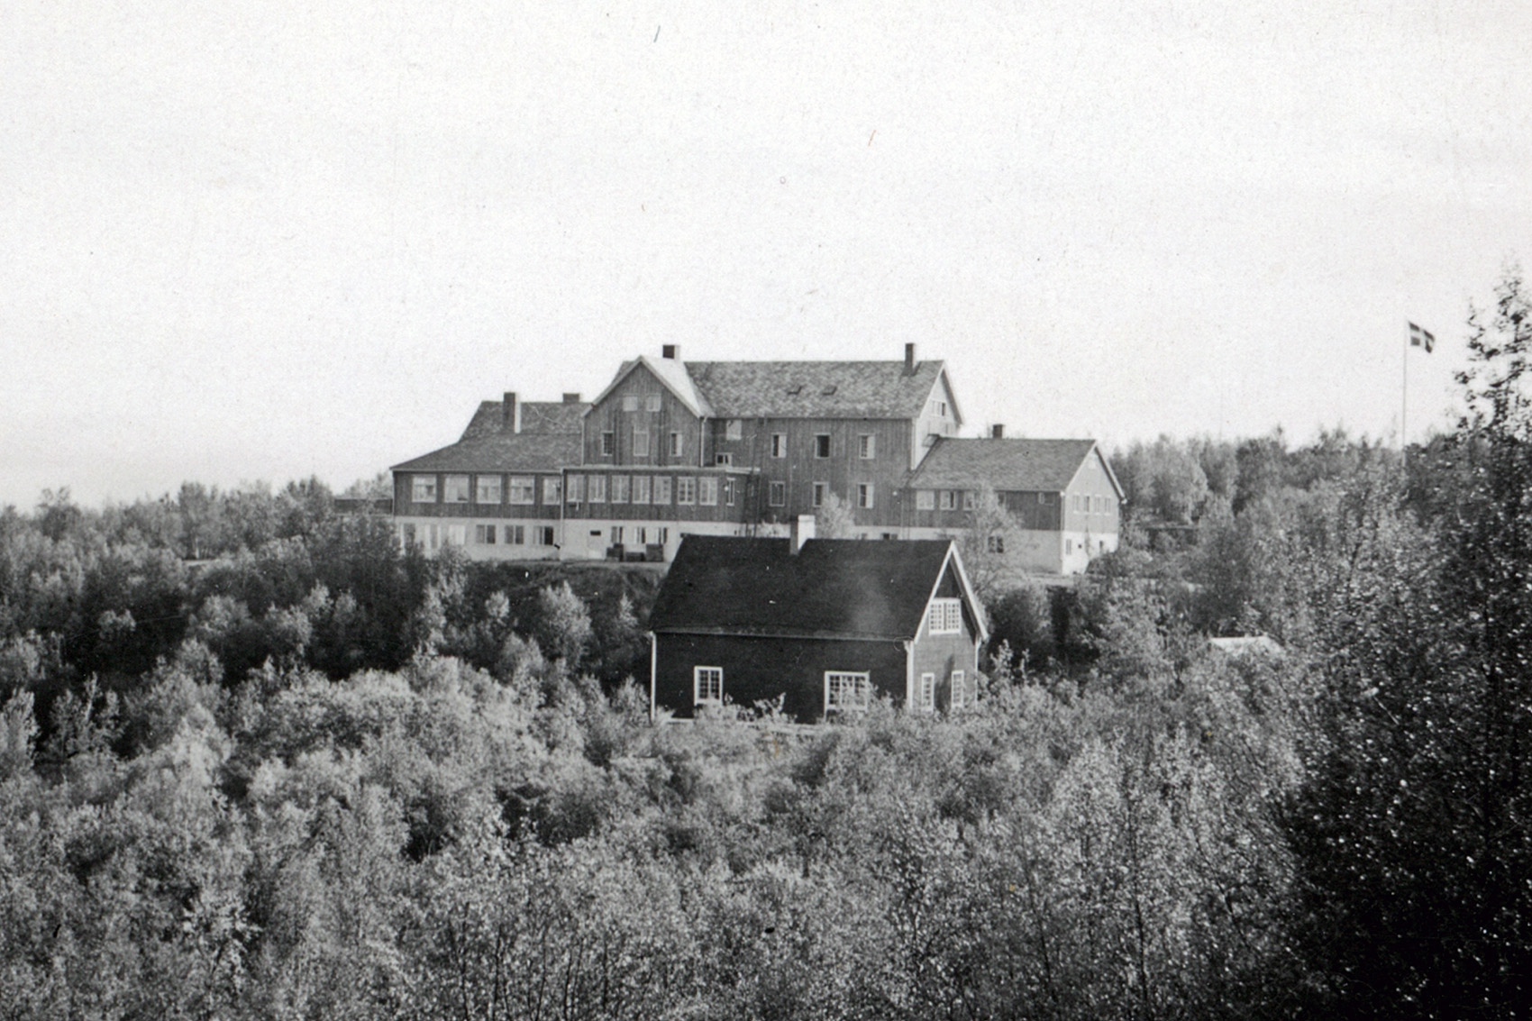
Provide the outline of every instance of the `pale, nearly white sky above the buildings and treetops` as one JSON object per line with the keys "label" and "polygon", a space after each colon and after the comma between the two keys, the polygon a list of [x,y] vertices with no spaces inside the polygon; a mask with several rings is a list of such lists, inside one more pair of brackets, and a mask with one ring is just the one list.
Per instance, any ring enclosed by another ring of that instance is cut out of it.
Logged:
{"label": "pale, nearly white sky above the buildings and treetops", "polygon": [[[337,489],[624,359],[944,359],[965,431],[1452,422],[1532,5],[6,0],[0,506]],[[1437,350],[1406,359],[1406,320]]]}

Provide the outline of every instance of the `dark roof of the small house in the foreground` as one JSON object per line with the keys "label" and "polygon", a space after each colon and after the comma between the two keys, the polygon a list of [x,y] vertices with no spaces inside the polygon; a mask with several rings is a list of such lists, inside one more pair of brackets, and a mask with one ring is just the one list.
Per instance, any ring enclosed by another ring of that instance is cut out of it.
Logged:
{"label": "dark roof of the small house in the foreground", "polygon": [[688,535],[650,629],[729,635],[913,638],[951,540],[789,540]]}

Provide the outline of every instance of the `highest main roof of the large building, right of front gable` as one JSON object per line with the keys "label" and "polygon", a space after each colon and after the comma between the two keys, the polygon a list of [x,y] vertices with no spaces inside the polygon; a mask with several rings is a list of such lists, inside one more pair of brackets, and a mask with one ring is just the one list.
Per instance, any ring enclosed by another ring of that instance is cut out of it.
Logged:
{"label": "highest main roof of the large building, right of front gable", "polygon": [[[942,362],[686,362],[720,419],[912,419]],[[956,414],[956,406],[953,408]]]}

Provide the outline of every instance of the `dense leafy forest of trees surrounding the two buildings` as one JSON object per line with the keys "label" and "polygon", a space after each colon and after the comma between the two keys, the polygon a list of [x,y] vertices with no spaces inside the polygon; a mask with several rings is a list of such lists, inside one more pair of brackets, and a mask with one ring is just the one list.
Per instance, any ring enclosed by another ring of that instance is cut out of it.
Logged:
{"label": "dense leafy forest of trees surrounding the two buildings", "polygon": [[1529,311],[1428,445],[1118,452],[953,716],[651,722],[654,573],[316,481],[8,507],[0,1016],[1523,1016]]}

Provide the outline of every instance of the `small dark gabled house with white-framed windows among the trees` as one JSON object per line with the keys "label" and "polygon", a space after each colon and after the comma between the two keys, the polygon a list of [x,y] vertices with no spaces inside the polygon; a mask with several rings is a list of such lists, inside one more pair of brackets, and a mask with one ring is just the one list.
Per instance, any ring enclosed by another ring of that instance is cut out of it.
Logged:
{"label": "small dark gabled house with white-framed windows among the trees", "polygon": [[974,699],[982,604],[951,540],[688,535],[650,613],[653,710],[783,699],[800,722]]}

